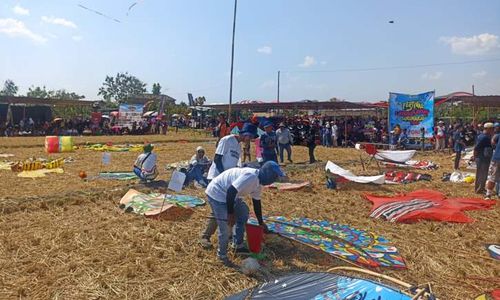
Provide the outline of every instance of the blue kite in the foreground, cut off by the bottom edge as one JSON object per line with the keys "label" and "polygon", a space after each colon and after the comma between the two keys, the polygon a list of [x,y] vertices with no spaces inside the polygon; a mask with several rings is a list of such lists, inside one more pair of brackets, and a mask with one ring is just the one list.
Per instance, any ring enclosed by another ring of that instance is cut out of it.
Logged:
{"label": "blue kite in the foreground, cut off by the bottom edge", "polygon": [[331,273],[300,273],[280,277],[226,300],[384,299],[410,300],[401,291],[370,280]]}

